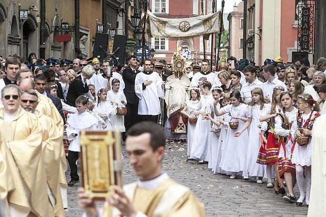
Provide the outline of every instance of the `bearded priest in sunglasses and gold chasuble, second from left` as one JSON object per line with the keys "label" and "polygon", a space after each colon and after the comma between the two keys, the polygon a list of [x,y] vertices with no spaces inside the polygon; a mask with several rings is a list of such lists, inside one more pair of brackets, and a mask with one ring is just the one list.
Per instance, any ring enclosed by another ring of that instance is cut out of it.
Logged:
{"label": "bearded priest in sunglasses and gold chasuble, second from left", "polygon": [[[64,209],[60,193],[60,183],[58,180],[60,173],[60,153],[62,151],[62,134],[54,121],[36,110],[38,105],[38,95],[35,90],[26,90],[21,96],[21,107],[35,116],[39,120],[39,127],[42,129],[42,155],[44,159],[47,176],[49,211],[55,212],[55,216],[64,216]],[[55,210],[54,211],[54,208]]]}

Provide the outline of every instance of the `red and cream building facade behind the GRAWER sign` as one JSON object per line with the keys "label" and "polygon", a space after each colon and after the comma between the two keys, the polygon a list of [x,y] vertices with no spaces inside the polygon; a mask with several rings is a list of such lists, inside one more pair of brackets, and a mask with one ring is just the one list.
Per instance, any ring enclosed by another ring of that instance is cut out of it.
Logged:
{"label": "red and cream building facade behind the GRAWER sign", "polygon": [[[305,1],[310,3],[313,1]],[[320,1],[316,1],[318,3]],[[313,63],[313,52],[298,52],[298,0],[247,0],[246,58],[262,65],[264,60],[280,56],[283,62],[295,62],[307,58]],[[319,4],[319,5],[322,5]],[[315,7],[317,9],[318,6]],[[315,13],[323,13],[315,10]],[[317,14],[316,14],[317,15]],[[316,16],[315,31],[322,31]],[[321,18],[324,19],[324,18]],[[315,32],[315,35],[322,35]],[[315,37],[315,45],[323,43]],[[315,46],[319,51],[322,46]],[[322,54],[322,52],[320,52]]]}

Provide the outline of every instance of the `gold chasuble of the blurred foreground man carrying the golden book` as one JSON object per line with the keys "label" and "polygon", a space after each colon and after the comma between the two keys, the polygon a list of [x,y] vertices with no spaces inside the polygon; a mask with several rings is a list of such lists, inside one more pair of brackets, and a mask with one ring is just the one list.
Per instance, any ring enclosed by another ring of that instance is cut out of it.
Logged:
{"label": "gold chasuble of the blurred foreground man carrying the golden book", "polygon": [[[171,178],[162,181],[153,190],[137,187],[133,182],[123,186],[123,190],[132,201],[134,208],[148,217],[204,217],[204,204],[200,202],[187,187],[176,183]],[[103,206],[103,217],[119,217],[118,209],[106,202]]]}

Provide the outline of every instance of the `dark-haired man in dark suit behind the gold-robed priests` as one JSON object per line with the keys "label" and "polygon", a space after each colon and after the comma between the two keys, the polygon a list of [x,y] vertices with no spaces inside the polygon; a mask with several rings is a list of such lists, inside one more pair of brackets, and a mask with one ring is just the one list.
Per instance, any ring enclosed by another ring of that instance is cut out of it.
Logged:
{"label": "dark-haired man in dark suit behind the gold-robed priests", "polygon": [[65,116],[64,116],[63,111],[62,111],[62,103],[61,103],[60,98],[45,92],[45,87],[46,87],[46,85],[48,83],[47,78],[44,75],[39,74],[39,75],[35,76],[34,81],[35,81],[35,89],[37,91],[39,91],[40,94],[43,94],[43,95],[49,97],[52,100],[53,104],[56,106],[56,108],[59,111],[62,119],[64,120]]}

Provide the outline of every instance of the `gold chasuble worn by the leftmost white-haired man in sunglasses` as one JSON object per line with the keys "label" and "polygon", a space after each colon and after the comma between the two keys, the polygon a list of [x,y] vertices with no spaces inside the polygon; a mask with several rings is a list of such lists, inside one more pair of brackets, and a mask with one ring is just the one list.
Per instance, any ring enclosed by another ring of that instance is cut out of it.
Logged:
{"label": "gold chasuble worn by the leftmost white-haired man in sunglasses", "polygon": [[4,109],[0,108],[0,131],[23,180],[25,197],[31,208],[28,216],[49,216],[49,209],[45,208],[49,205],[49,199],[42,158],[42,132],[38,127],[37,117],[19,108],[12,121],[5,121]]}

